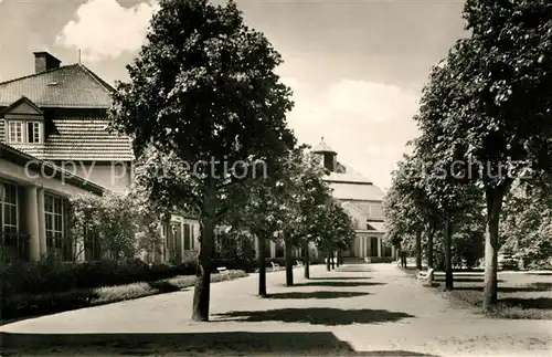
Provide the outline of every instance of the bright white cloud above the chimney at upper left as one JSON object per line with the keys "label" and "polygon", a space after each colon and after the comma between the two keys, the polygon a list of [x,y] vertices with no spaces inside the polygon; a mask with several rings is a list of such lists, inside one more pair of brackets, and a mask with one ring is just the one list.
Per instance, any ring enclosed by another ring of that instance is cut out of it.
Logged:
{"label": "bright white cloud above the chimney at upper left", "polygon": [[135,52],[146,41],[149,21],[158,10],[153,0],[131,8],[116,0],[89,0],[78,7],[56,38],[56,44],[81,49],[84,61],[116,59]]}

